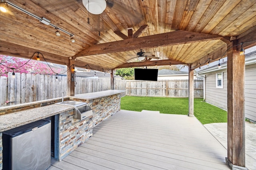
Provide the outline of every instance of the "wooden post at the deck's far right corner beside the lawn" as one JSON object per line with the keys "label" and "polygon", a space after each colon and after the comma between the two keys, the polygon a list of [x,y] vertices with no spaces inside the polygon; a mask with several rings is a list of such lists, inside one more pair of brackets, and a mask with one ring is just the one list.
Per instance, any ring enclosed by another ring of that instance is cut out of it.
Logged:
{"label": "wooden post at the deck's far right corner beside the lawn", "polygon": [[189,66],[188,72],[188,116],[194,117],[194,70]]}

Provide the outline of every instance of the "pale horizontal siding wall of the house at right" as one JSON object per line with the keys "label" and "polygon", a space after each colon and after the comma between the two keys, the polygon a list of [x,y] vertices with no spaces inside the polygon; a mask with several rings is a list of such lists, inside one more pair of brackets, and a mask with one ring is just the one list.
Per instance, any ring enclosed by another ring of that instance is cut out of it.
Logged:
{"label": "pale horizontal siding wall of the house at right", "polygon": [[[223,72],[223,89],[216,88],[216,73]],[[206,102],[227,109],[227,71],[206,73]],[[245,66],[245,117],[256,121],[256,64]]]}

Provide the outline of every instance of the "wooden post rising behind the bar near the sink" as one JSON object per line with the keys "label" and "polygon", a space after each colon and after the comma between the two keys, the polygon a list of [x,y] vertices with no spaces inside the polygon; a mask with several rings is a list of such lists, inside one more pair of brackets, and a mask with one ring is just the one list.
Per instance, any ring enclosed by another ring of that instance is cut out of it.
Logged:
{"label": "wooden post rising behind the bar near the sink", "polygon": [[75,61],[70,59],[67,67],[67,96],[75,96],[75,72],[73,70],[74,63]]}

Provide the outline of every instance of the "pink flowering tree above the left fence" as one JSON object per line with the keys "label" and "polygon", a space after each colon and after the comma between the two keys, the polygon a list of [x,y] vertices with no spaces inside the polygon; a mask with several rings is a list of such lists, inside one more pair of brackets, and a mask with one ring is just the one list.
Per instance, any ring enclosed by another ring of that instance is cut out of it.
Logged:
{"label": "pink flowering tree above the left fence", "polygon": [[[28,62],[28,63],[27,63]],[[35,61],[28,59],[21,59],[18,57],[11,57],[6,55],[0,55],[0,76],[8,77],[8,72],[12,72],[14,68],[14,72],[22,73],[32,73],[32,74],[61,74],[66,70],[61,68],[51,68],[48,66],[47,63],[42,61]],[[25,64],[25,65],[24,65]],[[24,65],[24,66],[22,66]],[[8,68],[7,68],[8,67]],[[20,68],[19,68],[20,67]]]}

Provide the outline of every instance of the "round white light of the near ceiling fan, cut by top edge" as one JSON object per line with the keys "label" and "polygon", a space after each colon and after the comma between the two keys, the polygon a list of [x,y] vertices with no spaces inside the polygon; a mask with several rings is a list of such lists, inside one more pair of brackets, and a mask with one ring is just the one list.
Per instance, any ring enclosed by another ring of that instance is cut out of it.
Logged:
{"label": "round white light of the near ceiling fan, cut by top edge", "polygon": [[101,14],[107,6],[105,0],[82,0],[84,7],[91,14]]}

